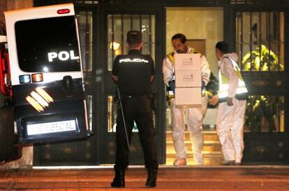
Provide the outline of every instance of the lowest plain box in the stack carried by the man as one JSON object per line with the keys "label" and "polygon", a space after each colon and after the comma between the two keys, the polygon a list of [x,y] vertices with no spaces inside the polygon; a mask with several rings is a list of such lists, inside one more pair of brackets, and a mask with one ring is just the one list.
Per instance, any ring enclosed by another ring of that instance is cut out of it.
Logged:
{"label": "lowest plain box in the stack carried by the man", "polygon": [[175,105],[178,108],[200,108],[202,106],[201,87],[176,87]]}

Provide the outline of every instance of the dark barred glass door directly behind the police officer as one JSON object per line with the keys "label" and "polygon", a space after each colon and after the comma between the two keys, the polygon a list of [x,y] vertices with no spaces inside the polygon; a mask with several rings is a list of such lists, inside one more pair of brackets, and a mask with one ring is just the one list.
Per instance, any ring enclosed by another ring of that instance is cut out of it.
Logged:
{"label": "dark barred glass door directly behind the police officer", "polygon": [[[158,153],[158,162],[163,163],[165,160],[165,134],[164,134],[164,104],[165,91],[162,80],[162,50],[161,36],[162,27],[160,23],[161,13],[108,13],[105,15],[105,52],[103,62],[105,63],[105,80],[103,87],[105,88],[106,101],[104,107],[105,115],[103,116],[103,127],[101,127],[101,164],[113,164],[115,161],[115,132],[117,121],[117,106],[114,104],[114,95],[116,94],[116,85],[112,82],[110,73],[112,64],[117,55],[126,55],[128,53],[128,45],[126,44],[126,34],[129,30],[142,31],[142,54],[150,55],[154,59],[156,68],[156,78],[153,83],[154,101],[152,105],[156,107],[154,110],[154,127],[156,129],[156,147]],[[133,136],[130,148],[130,164],[143,164],[142,147],[138,138],[138,127],[133,128]]]}

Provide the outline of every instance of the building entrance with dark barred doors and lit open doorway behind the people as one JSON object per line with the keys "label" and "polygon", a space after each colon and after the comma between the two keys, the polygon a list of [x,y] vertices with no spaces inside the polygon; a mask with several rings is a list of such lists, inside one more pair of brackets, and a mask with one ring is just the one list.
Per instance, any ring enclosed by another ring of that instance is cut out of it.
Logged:
{"label": "building entrance with dark barred doors and lit open doorway behind the people", "polygon": [[[40,6],[48,1],[35,2]],[[114,163],[116,113],[112,100],[116,86],[112,83],[110,70],[114,57],[127,51],[128,29],[142,30],[143,53],[151,55],[156,64],[154,118],[160,164],[172,165],[175,160],[162,60],[173,50],[170,39],[177,33],[185,34],[188,44],[207,57],[214,76],[218,73],[214,53],[217,41],[228,42],[232,51],[238,53],[238,64],[251,96],[247,101],[243,160],[246,164],[288,164],[288,56],[285,54],[288,36],[284,35],[288,31],[288,3],[267,3],[265,0],[74,2],[79,13],[80,45],[84,50],[82,63],[88,90],[89,127],[94,136],[79,142],[34,146],[34,165]],[[273,56],[270,50],[273,50]],[[243,63],[244,57],[246,62]],[[219,146],[212,146],[218,140],[215,113],[216,108],[207,108],[203,122],[205,165],[218,164],[222,157],[221,154],[216,157],[212,154],[215,151],[209,150],[209,147]],[[193,164],[188,138],[186,133],[188,164]],[[142,148],[138,143],[138,134],[134,133],[131,164],[143,164]]]}

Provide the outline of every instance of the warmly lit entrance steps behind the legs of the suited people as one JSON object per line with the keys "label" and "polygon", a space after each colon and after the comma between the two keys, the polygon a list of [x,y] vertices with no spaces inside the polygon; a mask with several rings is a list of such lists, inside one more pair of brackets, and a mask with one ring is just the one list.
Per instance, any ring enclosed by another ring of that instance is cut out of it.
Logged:
{"label": "warmly lit entrance steps behind the legs of the suited people", "polygon": [[[219,165],[223,161],[221,143],[218,141],[218,135],[214,130],[203,130],[204,146],[202,153],[204,155],[205,165]],[[185,132],[185,144],[187,150],[187,165],[195,165],[193,161],[193,152],[189,132]],[[165,165],[172,165],[175,161],[176,152],[172,143],[172,132],[166,132],[166,162]]]}

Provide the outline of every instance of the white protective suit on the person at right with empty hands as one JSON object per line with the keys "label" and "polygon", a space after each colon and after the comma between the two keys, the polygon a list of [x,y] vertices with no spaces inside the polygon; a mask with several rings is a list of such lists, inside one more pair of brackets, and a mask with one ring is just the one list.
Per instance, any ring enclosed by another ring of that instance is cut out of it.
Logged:
{"label": "white protective suit on the person at right with empty hands", "polygon": [[225,57],[230,57],[235,62],[238,57],[233,52],[223,55],[218,62],[221,73],[229,80],[228,97],[233,97],[234,105],[228,106],[226,101],[218,104],[216,131],[221,142],[224,160],[235,160],[235,163],[241,163],[244,149],[243,125],[246,100],[235,98],[239,77],[230,59]]}

